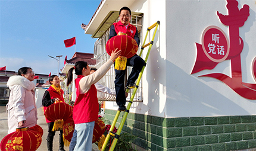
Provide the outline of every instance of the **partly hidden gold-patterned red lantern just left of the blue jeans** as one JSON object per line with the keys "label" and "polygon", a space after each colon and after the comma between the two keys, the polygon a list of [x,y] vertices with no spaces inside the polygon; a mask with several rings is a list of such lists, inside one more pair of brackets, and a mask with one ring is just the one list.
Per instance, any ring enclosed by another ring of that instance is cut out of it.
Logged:
{"label": "partly hidden gold-patterned red lantern just left of the blue jeans", "polygon": [[65,146],[69,146],[74,133],[73,117],[68,118],[63,124],[63,141]]}

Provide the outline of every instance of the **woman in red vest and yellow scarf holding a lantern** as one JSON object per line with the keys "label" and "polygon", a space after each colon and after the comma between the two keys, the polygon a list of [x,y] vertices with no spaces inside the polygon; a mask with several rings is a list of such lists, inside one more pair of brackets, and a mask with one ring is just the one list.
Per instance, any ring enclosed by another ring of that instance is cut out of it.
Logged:
{"label": "woman in red vest and yellow scarf holding a lantern", "polygon": [[[64,92],[61,89],[60,79],[58,78],[58,76],[57,75],[50,76],[49,82],[51,86],[45,91],[45,94],[43,94],[43,99],[42,99],[42,105],[43,105],[44,111],[49,105],[53,104],[55,101],[65,102],[63,98]],[[45,119],[46,119],[46,123],[48,124],[48,136],[46,139],[47,149],[48,151],[52,151],[52,143],[55,135],[55,131],[52,131],[52,127],[54,127],[54,122],[47,120],[47,118]],[[60,142],[59,151],[65,151],[62,130],[60,130],[59,142]]]}

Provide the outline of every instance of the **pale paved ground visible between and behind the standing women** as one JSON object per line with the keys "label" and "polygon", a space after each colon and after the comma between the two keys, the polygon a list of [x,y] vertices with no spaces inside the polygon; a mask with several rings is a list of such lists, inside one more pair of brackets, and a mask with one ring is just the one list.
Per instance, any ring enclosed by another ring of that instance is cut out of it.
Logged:
{"label": "pale paved ground visible between and behind the standing women", "polygon": [[[42,143],[40,147],[38,148],[38,151],[46,151],[47,146],[46,146],[46,137],[48,134],[48,126],[45,121],[45,116],[43,115],[43,111],[41,108],[38,109],[38,125],[43,128],[43,137],[42,137]],[[7,113],[5,113],[5,107],[0,106],[0,140],[2,140],[6,135],[8,131],[8,124],[7,124]],[[58,150],[58,145],[59,145],[59,134],[60,131],[57,131],[55,136],[54,136],[54,147],[53,150],[57,151]],[[92,151],[98,150],[98,146],[96,144],[93,144],[92,146]],[[68,147],[64,147],[66,151],[68,151]]]}

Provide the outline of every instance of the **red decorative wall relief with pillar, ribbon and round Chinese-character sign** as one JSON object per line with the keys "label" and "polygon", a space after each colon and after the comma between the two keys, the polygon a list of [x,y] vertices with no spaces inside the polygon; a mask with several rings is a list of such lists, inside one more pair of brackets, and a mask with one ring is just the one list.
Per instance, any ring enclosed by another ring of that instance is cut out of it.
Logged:
{"label": "red decorative wall relief with pillar, ribbon and round Chinese-character sign", "polygon": [[[239,36],[239,27],[245,24],[249,16],[249,6],[243,5],[243,8],[239,10],[236,0],[227,0],[226,7],[228,15],[220,14],[218,11],[217,15],[221,23],[229,27],[229,40],[221,28],[216,26],[205,28],[202,34],[202,44],[196,43],[197,56],[191,74],[205,69],[214,69],[218,63],[230,60],[231,77],[223,73],[211,73],[199,77],[216,78],[226,83],[243,98],[256,99],[256,84],[242,82],[241,52],[243,40]],[[256,81],[255,59],[252,62],[252,73]]]}

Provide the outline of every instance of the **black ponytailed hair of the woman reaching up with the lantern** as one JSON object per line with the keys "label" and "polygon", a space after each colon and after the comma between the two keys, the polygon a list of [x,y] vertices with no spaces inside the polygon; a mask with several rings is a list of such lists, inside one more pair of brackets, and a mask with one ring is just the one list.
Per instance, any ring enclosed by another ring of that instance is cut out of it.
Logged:
{"label": "black ponytailed hair of the woman reaching up with the lantern", "polygon": [[76,62],[72,68],[68,70],[67,73],[67,86],[70,85],[73,79],[73,70],[75,71],[76,75],[82,75],[83,68],[87,67],[87,62]]}

